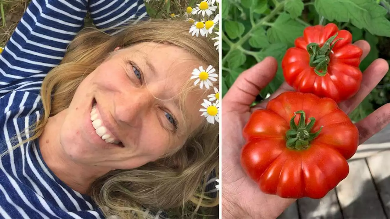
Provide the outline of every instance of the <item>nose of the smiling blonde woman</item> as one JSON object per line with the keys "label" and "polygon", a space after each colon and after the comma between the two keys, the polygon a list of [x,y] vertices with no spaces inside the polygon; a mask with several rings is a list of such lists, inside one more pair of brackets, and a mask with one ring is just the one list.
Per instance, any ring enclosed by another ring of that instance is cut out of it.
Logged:
{"label": "nose of the smiling blonde woman", "polygon": [[133,127],[139,127],[142,119],[152,109],[154,100],[154,96],[147,89],[121,92],[115,104],[115,118]]}

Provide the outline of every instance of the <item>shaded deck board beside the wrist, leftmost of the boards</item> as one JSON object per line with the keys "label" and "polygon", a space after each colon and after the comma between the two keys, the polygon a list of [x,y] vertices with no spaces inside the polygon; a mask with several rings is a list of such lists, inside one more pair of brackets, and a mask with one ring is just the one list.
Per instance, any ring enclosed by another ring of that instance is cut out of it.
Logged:
{"label": "shaded deck board beside the wrist, leftmost of the boards", "polygon": [[321,199],[301,198],[298,209],[302,219],[342,218],[335,189]]}

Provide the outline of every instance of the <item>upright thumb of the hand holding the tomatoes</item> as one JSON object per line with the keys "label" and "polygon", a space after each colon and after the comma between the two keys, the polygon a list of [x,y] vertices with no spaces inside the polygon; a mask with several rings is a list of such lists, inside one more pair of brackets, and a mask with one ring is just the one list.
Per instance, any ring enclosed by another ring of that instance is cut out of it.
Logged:
{"label": "upright thumb of the hand holding the tomatoes", "polygon": [[273,79],[278,69],[275,58],[267,57],[242,72],[222,99],[222,109],[248,112],[261,89]]}

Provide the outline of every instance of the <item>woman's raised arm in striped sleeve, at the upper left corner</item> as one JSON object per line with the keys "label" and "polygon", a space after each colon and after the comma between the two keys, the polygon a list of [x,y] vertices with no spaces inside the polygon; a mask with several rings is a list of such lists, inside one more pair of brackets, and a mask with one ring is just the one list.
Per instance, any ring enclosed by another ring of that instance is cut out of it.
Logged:
{"label": "woman's raised arm in striped sleeve, at the upper left corner", "polygon": [[32,0],[0,56],[0,97],[14,90],[39,93],[51,68],[81,30],[87,0]]}

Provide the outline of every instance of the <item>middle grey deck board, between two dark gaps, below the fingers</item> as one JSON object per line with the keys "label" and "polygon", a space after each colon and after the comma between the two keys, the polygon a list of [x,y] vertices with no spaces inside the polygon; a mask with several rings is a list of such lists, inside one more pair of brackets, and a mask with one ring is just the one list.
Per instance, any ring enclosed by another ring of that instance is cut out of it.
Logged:
{"label": "middle grey deck board, between two dark gaps, below the fingers", "polygon": [[365,159],[349,162],[349,174],[336,192],[344,218],[386,218]]}

